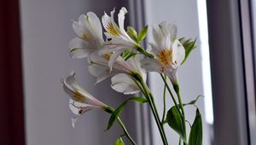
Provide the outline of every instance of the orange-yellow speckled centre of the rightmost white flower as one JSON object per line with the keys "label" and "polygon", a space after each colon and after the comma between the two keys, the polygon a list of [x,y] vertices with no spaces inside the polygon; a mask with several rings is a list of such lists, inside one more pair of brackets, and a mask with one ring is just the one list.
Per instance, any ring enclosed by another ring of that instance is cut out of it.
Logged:
{"label": "orange-yellow speckled centre of the rightmost white flower", "polygon": [[157,59],[165,66],[172,64],[172,50],[161,49],[157,54]]}

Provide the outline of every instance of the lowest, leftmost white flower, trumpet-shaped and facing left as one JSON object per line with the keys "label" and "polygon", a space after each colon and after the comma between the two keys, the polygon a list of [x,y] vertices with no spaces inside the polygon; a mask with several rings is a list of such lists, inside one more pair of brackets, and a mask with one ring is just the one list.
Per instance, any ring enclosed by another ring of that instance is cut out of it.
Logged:
{"label": "lowest, leftmost white flower, trumpet-shaped and facing left", "polygon": [[84,90],[84,88],[78,84],[74,76],[75,73],[71,72],[67,78],[61,79],[63,83],[63,89],[69,96],[71,96],[69,107],[74,114],[78,115],[78,117],[72,119],[73,126],[79,116],[85,112],[92,109],[106,110],[106,108],[108,108],[106,104],[98,101],[96,97],[90,95],[89,92]]}

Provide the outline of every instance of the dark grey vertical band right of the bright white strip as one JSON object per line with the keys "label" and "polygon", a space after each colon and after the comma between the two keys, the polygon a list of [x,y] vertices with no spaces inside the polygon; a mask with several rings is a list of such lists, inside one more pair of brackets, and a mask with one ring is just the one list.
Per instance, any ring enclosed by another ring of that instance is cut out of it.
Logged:
{"label": "dark grey vertical band right of the bright white strip", "polygon": [[207,0],[214,144],[247,145],[239,0]]}

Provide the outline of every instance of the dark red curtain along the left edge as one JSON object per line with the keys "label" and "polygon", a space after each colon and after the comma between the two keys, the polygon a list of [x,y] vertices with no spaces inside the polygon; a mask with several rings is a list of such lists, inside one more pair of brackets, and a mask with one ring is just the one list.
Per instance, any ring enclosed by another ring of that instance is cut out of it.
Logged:
{"label": "dark red curtain along the left edge", "polygon": [[0,144],[25,145],[18,0],[0,1]]}

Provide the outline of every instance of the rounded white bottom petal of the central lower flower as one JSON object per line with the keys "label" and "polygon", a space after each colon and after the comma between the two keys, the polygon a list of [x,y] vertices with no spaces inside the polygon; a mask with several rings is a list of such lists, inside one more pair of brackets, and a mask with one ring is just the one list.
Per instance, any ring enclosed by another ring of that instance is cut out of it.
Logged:
{"label": "rounded white bottom petal of the central lower flower", "polygon": [[136,94],[139,92],[139,89],[137,88],[137,85],[134,83],[132,78],[125,73],[120,73],[113,76],[111,78],[111,82],[111,87],[113,90],[124,93],[125,95]]}

